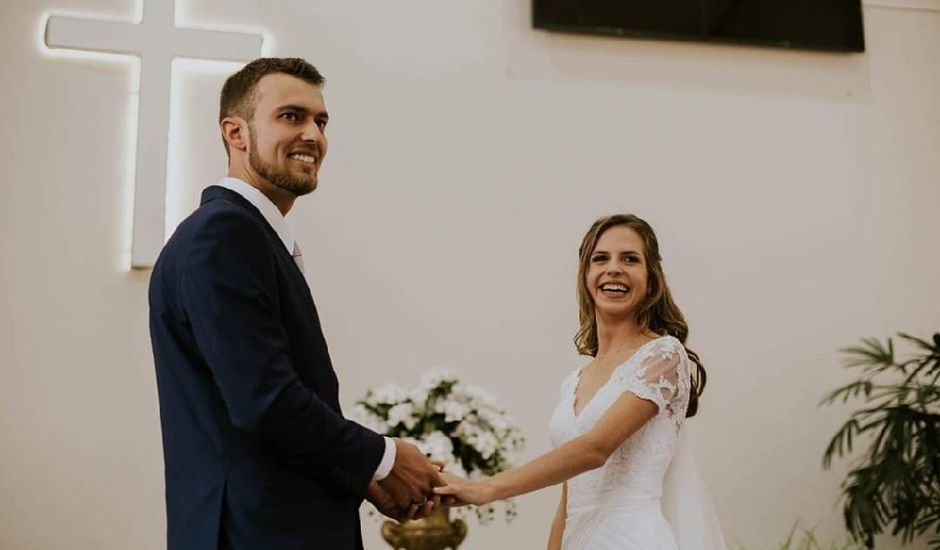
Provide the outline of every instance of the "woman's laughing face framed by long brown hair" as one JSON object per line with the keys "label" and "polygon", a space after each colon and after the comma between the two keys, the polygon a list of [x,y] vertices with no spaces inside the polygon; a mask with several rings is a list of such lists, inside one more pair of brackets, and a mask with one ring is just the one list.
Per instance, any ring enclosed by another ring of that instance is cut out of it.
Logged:
{"label": "woman's laughing face framed by long brown hair", "polygon": [[646,296],[643,239],[625,225],[611,227],[597,239],[584,284],[599,315],[632,315]]}

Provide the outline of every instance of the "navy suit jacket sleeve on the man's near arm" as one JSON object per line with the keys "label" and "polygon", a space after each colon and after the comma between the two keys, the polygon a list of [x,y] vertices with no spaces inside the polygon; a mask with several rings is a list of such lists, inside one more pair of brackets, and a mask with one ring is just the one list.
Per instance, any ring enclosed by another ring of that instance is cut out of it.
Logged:
{"label": "navy suit jacket sleeve on the man's near arm", "polygon": [[298,378],[269,247],[265,228],[240,212],[219,213],[196,232],[180,292],[197,346],[236,428],[364,494],[384,440],[337,414]]}

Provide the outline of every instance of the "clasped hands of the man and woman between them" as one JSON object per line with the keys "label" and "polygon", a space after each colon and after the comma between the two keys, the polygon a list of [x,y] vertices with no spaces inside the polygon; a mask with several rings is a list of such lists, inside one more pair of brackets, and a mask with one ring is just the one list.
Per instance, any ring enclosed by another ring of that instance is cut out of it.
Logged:
{"label": "clasped hands of the man and woman between them", "polygon": [[438,506],[465,506],[492,501],[483,483],[443,472],[417,447],[395,438],[395,464],[385,479],[369,484],[366,498],[383,515],[397,521],[427,517]]}

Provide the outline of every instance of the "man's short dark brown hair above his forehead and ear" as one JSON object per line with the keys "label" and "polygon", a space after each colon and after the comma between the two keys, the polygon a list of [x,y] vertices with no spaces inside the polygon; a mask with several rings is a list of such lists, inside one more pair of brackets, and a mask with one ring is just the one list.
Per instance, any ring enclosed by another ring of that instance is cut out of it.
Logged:
{"label": "man's short dark brown hair above his forehead and ear", "polygon": [[[255,114],[255,88],[258,81],[274,73],[294,76],[314,86],[322,86],[326,81],[316,67],[299,57],[260,57],[225,81],[219,98],[219,123],[230,116],[250,121]],[[225,152],[228,152],[228,143],[225,140],[222,143]]]}

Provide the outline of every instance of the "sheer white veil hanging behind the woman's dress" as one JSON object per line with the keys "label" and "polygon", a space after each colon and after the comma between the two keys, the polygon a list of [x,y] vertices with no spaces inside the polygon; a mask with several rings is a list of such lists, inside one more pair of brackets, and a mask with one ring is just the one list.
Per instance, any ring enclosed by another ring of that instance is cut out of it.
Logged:
{"label": "sheer white veil hanging behind the woman's dress", "polygon": [[663,515],[679,550],[727,550],[708,486],[695,461],[686,422],[663,480]]}

